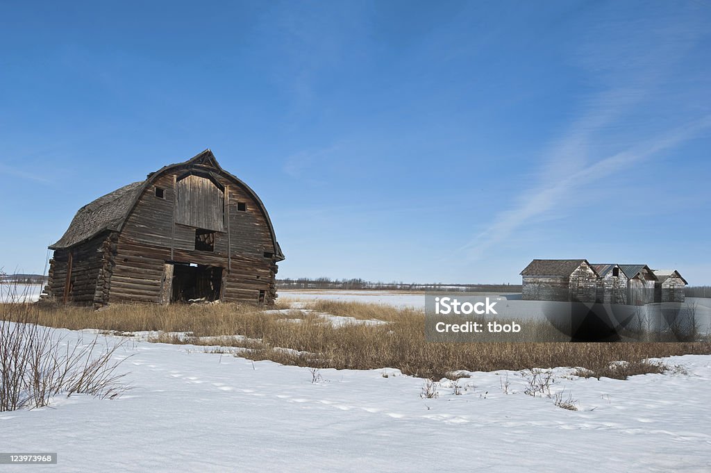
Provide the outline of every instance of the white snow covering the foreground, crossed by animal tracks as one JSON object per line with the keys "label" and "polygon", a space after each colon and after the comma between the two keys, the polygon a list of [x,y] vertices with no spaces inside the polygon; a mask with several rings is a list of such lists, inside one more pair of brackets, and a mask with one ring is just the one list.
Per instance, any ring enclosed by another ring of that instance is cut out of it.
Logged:
{"label": "white snow covering the foreground, crossed by animal tracks", "polygon": [[130,356],[122,369],[134,386],[122,398],[0,413],[0,451],[58,453],[56,465],[0,470],[711,471],[711,356],[666,360],[686,374],[627,381],[557,368],[554,390],[579,411],[525,395],[518,372],[471,373],[462,395],[445,381],[427,399],[422,379],[388,368],[324,369],[312,383],[309,368],[198,346],[131,341],[117,356]]}

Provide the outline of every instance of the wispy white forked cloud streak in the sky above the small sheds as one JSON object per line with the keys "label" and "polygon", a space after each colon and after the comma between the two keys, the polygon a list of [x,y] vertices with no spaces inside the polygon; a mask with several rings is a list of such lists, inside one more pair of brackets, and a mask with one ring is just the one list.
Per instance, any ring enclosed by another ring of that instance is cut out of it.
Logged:
{"label": "wispy white forked cloud streak in the sky above the small sheds", "polygon": [[[614,38],[602,48],[596,40],[594,48],[584,49],[579,63],[591,78],[599,79],[608,88],[584,104],[567,133],[552,142],[550,158],[538,169],[535,184],[525,188],[511,208],[496,214],[481,233],[460,248],[470,260],[479,259],[487,250],[505,242],[515,230],[567,205],[576,191],[678,147],[711,127],[711,115],[700,115],[686,118],[683,124],[677,122],[671,127],[666,124],[665,129],[656,130],[651,136],[650,132],[627,129],[625,122],[632,113],[647,110],[647,102],[654,100],[665,86],[665,79],[678,59],[707,34],[693,23],[696,22],[677,21],[673,26],[665,23],[657,30],[653,25],[642,25],[638,31],[643,33],[636,36]],[[652,41],[646,31],[662,31],[662,34]],[[621,48],[621,42],[627,47],[625,58],[632,59],[626,62],[623,58],[617,61],[603,57],[601,53],[607,55],[614,48]],[[626,142],[635,144],[599,157],[600,150],[620,130],[626,130]]]}

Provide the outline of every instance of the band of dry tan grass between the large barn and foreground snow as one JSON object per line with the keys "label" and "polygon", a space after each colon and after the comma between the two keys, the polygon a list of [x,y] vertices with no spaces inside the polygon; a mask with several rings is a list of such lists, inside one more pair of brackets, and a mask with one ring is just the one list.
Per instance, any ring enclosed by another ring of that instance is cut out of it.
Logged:
{"label": "band of dry tan grass between the large barn and foreground snow", "polygon": [[[218,304],[161,307],[117,305],[100,312],[80,307],[38,309],[38,323],[67,329],[117,332],[161,331],[153,341],[240,347],[253,360],[314,368],[398,368],[425,378],[451,371],[522,370],[571,366],[589,376],[626,378],[663,371],[647,358],[710,354],[709,343],[487,343],[445,344],[424,340],[424,314],[379,304],[314,301],[309,309],[355,319],[380,319],[388,324],[332,326],[304,312],[264,312],[259,307]],[[187,333],[174,336],[170,332]],[[239,335],[239,336],[236,336]],[[209,338],[204,338],[209,337]],[[215,338],[217,337],[217,338]],[[617,361],[626,361],[620,367]],[[616,366],[616,367],[611,367]]]}

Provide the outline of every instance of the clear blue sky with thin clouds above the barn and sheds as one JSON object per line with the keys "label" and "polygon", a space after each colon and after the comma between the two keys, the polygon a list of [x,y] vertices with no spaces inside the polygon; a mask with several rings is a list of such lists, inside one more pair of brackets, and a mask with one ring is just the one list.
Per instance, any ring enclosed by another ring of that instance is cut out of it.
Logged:
{"label": "clear blue sky with thin clouds above the barn and sheds", "polygon": [[711,284],[711,1],[0,3],[0,267],[205,148],[280,277]]}

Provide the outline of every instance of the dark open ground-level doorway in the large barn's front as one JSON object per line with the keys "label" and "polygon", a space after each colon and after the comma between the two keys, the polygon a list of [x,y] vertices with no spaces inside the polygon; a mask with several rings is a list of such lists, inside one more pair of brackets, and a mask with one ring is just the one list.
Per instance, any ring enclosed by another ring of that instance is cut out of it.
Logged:
{"label": "dark open ground-level doorway in the large barn's front", "polygon": [[171,302],[210,302],[220,299],[223,268],[217,266],[173,265]]}

